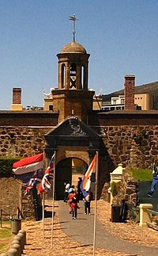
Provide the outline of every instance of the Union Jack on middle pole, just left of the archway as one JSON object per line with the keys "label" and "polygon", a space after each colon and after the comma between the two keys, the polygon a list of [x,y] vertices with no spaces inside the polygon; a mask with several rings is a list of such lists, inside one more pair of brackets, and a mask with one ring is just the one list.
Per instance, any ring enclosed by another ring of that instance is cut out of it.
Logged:
{"label": "Union Jack on middle pole, just left of the archway", "polygon": [[45,190],[51,189],[51,179],[54,177],[54,168],[55,168],[55,154],[52,155],[51,161],[45,170],[45,174],[39,186],[39,193],[43,193]]}

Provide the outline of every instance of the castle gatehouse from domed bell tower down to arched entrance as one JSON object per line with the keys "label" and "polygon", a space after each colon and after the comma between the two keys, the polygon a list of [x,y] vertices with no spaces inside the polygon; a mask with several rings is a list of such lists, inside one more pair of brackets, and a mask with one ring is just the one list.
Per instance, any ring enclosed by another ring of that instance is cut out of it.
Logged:
{"label": "castle gatehouse from domed bell tower down to arched entrance", "polygon": [[87,124],[95,94],[88,90],[89,54],[73,40],[57,56],[58,89],[51,90],[51,95],[45,98],[44,109],[58,113],[59,124],[45,136],[45,152],[50,159],[56,151],[55,193],[56,198],[61,199],[64,184],[70,181],[77,185],[77,178],[85,174],[103,142],[100,134]]}

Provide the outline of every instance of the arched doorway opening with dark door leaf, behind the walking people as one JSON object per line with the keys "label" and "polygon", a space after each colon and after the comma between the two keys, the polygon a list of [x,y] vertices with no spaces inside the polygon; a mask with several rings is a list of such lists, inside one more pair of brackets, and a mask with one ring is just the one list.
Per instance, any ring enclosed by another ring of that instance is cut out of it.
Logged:
{"label": "arched doorway opening with dark door leaf, behind the walking people", "polygon": [[55,168],[55,197],[56,200],[64,198],[65,185],[68,181],[77,185],[78,177],[83,177],[87,164],[81,159],[67,158],[58,162]]}

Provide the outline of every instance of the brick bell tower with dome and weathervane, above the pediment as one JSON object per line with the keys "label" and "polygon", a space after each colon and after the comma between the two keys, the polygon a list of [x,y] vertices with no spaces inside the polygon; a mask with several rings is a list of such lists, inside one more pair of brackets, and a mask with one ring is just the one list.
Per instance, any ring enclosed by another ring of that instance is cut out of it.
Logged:
{"label": "brick bell tower with dome and weathervane, above the pediment", "polygon": [[[75,24],[76,17],[70,17]],[[59,113],[59,122],[68,116],[79,117],[86,123],[92,110],[94,91],[88,90],[89,54],[81,44],[73,41],[66,44],[58,57],[58,89],[52,90],[53,111]]]}

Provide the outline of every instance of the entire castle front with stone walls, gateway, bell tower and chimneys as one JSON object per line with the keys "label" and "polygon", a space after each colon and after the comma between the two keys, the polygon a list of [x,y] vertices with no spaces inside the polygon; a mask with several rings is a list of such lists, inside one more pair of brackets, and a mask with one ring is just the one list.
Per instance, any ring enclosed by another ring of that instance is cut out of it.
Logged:
{"label": "entire castle front with stone walls, gateway, bell tower and chimneys", "polygon": [[88,90],[89,54],[73,40],[58,53],[58,88],[51,89],[43,110],[21,107],[21,90],[13,89],[11,111],[0,111],[1,156],[26,157],[56,151],[56,198],[64,183],[77,182],[99,152],[98,196],[121,162],[148,167],[158,154],[158,112],[134,109],[134,76],[125,77],[125,110],[93,110]]}

